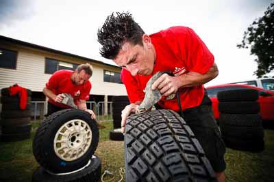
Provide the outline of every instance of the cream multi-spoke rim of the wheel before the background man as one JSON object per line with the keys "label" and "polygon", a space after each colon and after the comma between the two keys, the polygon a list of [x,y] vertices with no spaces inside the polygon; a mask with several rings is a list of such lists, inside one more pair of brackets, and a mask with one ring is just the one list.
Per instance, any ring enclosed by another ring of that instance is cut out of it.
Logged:
{"label": "cream multi-spoke rim of the wheel before the background man", "polygon": [[55,154],[64,161],[73,161],[88,151],[92,141],[92,130],[86,121],[73,119],[64,123],[55,134]]}

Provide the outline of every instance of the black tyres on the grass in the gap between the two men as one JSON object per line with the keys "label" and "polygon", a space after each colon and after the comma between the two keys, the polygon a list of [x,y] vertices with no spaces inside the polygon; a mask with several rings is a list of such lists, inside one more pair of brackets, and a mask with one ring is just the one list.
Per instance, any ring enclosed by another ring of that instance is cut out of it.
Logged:
{"label": "black tyres on the grass in the gap between the two men", "polygon": [[114,130],[110,131],[110,140],[124,140],[124,135],[121,133],[121,112],[127,105],[129,105],[129,99],[127,96],[112,97],[112,118]]}

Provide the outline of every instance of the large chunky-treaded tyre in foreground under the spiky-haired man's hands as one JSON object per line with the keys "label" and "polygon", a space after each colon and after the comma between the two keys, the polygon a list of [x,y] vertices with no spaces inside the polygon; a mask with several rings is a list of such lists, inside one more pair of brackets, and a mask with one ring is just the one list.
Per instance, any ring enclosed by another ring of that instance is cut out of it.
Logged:
{"label": "large chunky-treaded tyre in foreground under the spiky-haired man's hands", "polygon": [[216,181],[214,170],[182,117],[153,110],[128,117],[126,181]]}

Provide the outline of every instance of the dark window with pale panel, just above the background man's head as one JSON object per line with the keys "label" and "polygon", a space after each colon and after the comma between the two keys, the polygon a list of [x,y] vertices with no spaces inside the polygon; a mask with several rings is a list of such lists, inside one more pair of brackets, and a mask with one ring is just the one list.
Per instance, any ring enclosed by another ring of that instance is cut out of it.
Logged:
{"label": "dark window with pale panel, just above the background man's head", "polygon": [[58,70],[75,70],[78,64],[66,63],[55,59],[46,58],[46,74],[53,74]]}

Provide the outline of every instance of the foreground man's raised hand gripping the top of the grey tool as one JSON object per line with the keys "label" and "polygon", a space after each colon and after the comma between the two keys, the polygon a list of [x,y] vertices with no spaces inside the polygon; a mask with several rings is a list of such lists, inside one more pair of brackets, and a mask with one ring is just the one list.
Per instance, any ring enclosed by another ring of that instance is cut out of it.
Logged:
{"label": "foreground man's raised hand gripping the top of the grey tool", "polygon": [[164,96],[169,96],[171,93],[176,93],[180,87],[180,82],[175,76],[162,74],[151,86],[152,90],[159,89]]}

